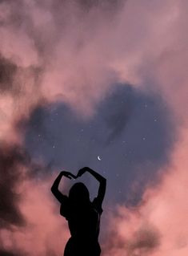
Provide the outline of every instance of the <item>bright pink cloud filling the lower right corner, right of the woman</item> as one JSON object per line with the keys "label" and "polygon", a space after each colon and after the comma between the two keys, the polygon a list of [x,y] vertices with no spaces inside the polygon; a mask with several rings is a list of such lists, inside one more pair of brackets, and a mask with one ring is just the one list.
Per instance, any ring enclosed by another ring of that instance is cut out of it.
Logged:
{"label": "bright pink cloud filling the lower right corner, right of the woman", "polygon": [[158,185],[146,189],[140,205],[134,209],[118,206],[118,214],[111,216],[113,242],[106,242],[105,255],[186,256],[187,141],[187,132],[183,131],[183,140],[174,148],[170,166],[166,167],[165,173],[162,170]]}

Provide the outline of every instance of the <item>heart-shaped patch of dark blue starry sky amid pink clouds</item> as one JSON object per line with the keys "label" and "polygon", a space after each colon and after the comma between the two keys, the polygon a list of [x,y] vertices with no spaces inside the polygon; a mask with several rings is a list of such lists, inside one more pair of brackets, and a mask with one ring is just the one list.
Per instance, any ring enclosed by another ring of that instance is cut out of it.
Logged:
{"label": "heart-shaped patch of dark blue starry sky amid pink clouds", "polygon": [[[75,116],[61,102],[35,109],[25,144],[33,160],[44,161],[52,171],[77,173],[90,166],[102,173],[108,182],[109,204],[135,204],[148,181],[154,181],[168,161],[172,127],[166,104],[158,95],[119,84],[88,120]],[[89,175],[85,181],[93,196],[97,183]]]}

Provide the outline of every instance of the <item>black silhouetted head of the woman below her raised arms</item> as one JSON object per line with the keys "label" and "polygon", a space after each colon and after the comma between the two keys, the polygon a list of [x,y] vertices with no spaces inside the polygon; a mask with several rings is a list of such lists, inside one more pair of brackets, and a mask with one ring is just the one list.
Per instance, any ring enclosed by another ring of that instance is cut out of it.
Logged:
{"label": "black silhouetted head of the woman below her raised arms", "polygon": [[82,182],[75,183],[69,192],[70,201],[79,203],[90,202],[90,193]]}

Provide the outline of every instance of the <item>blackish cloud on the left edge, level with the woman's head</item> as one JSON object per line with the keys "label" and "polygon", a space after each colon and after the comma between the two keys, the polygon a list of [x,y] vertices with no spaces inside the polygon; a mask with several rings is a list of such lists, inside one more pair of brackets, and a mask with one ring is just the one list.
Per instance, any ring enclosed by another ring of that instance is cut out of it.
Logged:
{"label": "blackish cloud on the left edge, level with the woman's head", "polygon": [[22,168],[28,163],[26,152],[18,146],[2,144],[0,148],[0,219],[1,227],[23,226],[24,217],[18,208],[18,185],[22,182]]}

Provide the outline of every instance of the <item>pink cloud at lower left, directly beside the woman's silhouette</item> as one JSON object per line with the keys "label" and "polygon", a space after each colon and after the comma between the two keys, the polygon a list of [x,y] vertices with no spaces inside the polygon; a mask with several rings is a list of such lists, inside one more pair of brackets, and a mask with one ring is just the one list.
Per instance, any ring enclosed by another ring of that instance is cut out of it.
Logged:
{"label": "pink cloud at lower left, directly beside the woman's silhouette", "polygon": [[1,247],[28,255],[63,254],[70,234],[66,221],[59,214],[59,205],[50,193],[50,180],[26,179],[19,187],[22,201],[19,209],[26,226],[12,226],[0,231]]}

